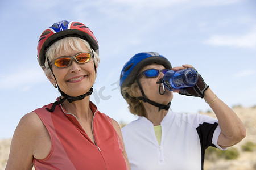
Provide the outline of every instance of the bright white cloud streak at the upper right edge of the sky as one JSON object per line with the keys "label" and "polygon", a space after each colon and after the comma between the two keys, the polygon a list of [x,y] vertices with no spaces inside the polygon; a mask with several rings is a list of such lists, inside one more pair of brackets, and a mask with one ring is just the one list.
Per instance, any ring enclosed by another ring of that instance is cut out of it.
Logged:
{"label": "bright white cloud streak at the upper right edge of the sky", "polygon": [[213,35],[205,44],[214,46],[231,46],[235,48],[255,48],[256,47],[256,29],[240,36],[231,35]]}

